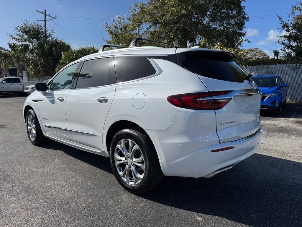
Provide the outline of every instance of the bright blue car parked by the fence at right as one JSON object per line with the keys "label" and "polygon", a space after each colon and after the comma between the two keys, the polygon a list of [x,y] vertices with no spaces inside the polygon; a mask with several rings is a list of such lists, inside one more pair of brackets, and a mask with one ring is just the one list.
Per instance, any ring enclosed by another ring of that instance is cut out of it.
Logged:
{"label": "bright blue car parked by the fence at right", "polygon": [[279,114],[286,104],[288,84],[284,84],[279,76],[252,76],[251,79],[262,93],[261,109]]}

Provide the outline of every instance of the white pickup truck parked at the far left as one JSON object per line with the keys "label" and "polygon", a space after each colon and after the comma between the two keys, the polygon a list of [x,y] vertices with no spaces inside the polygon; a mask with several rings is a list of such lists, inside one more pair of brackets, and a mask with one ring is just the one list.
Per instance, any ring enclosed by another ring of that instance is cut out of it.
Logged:
{"label": "white pickup truck parked at the far left", "polygon": [[28,85],[40,83],[39,81],[24,82],[19,77],[3,77],[0,78],[0,94],[24,92],[24,88]]}

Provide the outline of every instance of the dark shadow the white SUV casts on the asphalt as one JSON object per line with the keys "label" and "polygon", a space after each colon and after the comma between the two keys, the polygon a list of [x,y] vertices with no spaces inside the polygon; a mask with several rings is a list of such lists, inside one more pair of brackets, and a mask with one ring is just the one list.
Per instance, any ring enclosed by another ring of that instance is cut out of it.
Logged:
{"label": "dark shadow the white SUV casts on the asphalt", "polygon": [[[43,147],[112,174],[107,157],[50,141]],[[245,225],[301,226],[301,169],[302,163],[256,153],[219,176],[164,177],[155,189],[134,196]]]}

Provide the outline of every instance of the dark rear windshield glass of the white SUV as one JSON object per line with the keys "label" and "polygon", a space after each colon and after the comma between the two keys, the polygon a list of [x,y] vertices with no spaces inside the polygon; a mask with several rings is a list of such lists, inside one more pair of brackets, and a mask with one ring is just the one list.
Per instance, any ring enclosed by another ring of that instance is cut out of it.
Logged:
{"label": "dark rear windshield glass of the white SUV", "polygon": [[230,58],[219,55],[196,54],[188,56],[182,67],[199,74],[222,81],[242,83],[247,74]]}

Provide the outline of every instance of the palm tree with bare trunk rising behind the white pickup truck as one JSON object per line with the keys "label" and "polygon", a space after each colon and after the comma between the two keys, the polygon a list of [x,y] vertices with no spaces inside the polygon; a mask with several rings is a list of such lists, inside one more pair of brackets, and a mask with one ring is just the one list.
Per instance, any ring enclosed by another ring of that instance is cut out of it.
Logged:
{"label": "palm tree with bare trunk rising behind the white pickup truck", "polygon": [[26,66],[26,53],[29,51],[28,44],[8,43],[11,49],[11,58],[14,61],[19,77],[23,79],[22,65]]}

